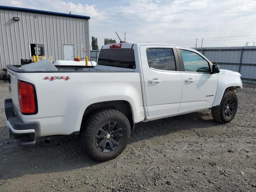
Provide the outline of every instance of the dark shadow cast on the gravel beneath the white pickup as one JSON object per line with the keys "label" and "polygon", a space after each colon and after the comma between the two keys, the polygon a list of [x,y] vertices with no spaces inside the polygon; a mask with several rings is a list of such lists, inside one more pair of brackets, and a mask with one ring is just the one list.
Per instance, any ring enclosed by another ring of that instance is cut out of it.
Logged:
{"label": "dark shadow cast on the gravel beneath the white pickup", "polygon": [[[141,122],[136,124],[127,147],[140,140],[180,130],[210,128],[216,125],[218,123],[212,120],[209,111]],[[47,174],[75,169],[84,169],[86,172],[90,166],[104,164],[90,160],[84,154],[83,149],[79,147],[78,136],[56,136],[51,144],[39,142],[35,146],[18,146],[11,140],[3,142],[0,138],[1,143],[0,180],[25,174]],[[112,161],[118,162],[118,158]]]}

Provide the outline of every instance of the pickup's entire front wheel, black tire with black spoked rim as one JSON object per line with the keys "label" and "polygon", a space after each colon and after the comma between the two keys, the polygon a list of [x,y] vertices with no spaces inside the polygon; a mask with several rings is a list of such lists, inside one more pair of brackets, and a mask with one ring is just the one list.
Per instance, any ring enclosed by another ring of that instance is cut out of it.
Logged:
{"label": "pickup's entire front wheel, black tire with black spoked rim", "polygon": [[219,106],[212,108],[212,117],[220,123],[232,121],[236,115],[238,98],[235,92],[225,91]]}

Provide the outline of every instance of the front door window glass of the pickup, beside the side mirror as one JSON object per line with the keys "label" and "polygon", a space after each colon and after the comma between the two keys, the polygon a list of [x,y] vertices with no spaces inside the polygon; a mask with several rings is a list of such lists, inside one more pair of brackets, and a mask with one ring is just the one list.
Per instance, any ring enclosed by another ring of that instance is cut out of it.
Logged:
{"label": "front door window glass of the pickup, beside the side mirror", "polygon": [[184,71],[187,72],[210,72],[209,63],[200,55],[187,50],[180,50]]}

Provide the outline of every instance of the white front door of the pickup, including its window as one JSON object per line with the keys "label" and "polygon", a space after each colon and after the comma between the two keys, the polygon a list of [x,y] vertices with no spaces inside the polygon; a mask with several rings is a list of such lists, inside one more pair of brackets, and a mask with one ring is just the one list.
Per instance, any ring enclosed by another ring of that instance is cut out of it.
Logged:
{"label": "white front door of the pickup, including its window", "polygon": [[210,63],[196,52],[180,50],[184,71],[182,99],[179,112],[211,107],[218,77],[210,73]]}

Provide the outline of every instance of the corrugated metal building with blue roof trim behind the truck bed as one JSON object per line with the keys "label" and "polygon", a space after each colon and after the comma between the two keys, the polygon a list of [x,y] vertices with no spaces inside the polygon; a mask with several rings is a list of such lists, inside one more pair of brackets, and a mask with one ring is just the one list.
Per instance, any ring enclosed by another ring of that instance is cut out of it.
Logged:
{"label": "corrugated metal building with blue roof trim behind the truck bed", "polygon": [[0,6],[0,69],[33,55],[90,58],[89,16]]}

